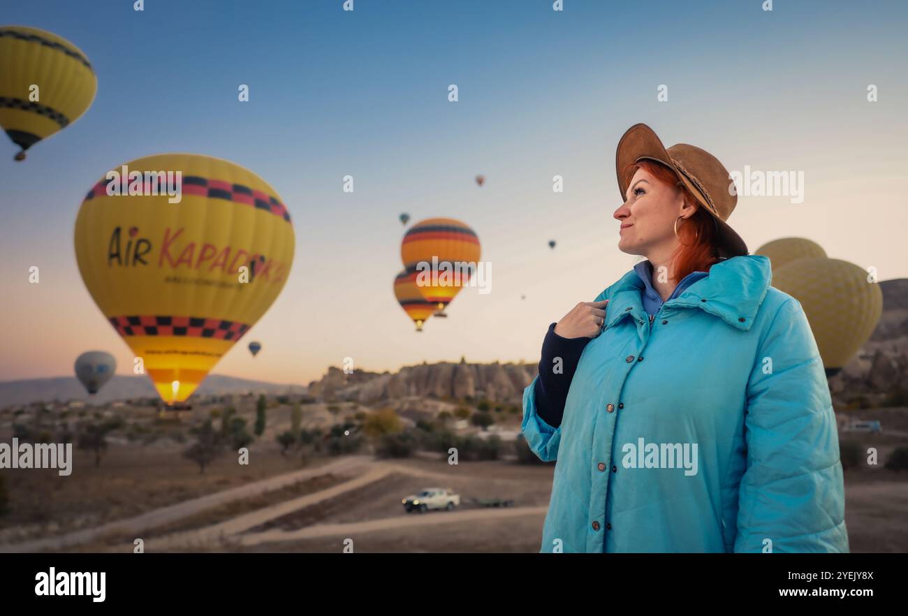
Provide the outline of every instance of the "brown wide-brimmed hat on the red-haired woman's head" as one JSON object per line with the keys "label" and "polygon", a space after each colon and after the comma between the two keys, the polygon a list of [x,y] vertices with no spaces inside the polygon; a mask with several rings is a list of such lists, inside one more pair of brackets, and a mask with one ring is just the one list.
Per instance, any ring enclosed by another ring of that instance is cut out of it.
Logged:
{"label": "brown wide-brimmed hat on the red-haired woman's head", "polygon": [[706,212],[713,215],[718,230],[719,256],[730,258],[749,253],[745,241],[725,223],[735,211],[737,192],[731,175],[716,156],[696,145],[675,144],[666,149],[652,128],[634,124],[621,137],[615,155],[622,201],[627,199],[627,182],[622,171],[628,164],[645,159],[665,164],[674,171]]}

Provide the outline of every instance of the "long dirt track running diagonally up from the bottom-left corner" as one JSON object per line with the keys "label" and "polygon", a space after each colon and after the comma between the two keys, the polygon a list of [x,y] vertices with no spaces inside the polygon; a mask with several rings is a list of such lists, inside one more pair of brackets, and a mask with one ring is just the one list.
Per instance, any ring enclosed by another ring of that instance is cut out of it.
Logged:
{"label": "long dirt track running diagonally up from the bottom-left corner", "polygon": [[[35,541],[3,544],[0,545],[0,553],[44,550],[60,551],[80,543],[103,540],[105,536],[111,534],[135,534],[136,536],[139,536],[142,532],[149,529],[182,520],[183,518],[227,502],[248,498],[261,494],[262,492],[271,492],[271,490],[277,490],[296,482],[311,479],[312,477],[325,474],[326,472],[347,472],[371,461],[371,456],[348,456],[337,461],[321,464],[314,468],[287,472],[258,482],[246,483],[245,485],[231,488],[230,490],[207,494],[189,501],[178,502],[177,504],[155,509],[133,518],[119,520],[117,522],[108,522],[91,529],[69,532],[56,537],[47,537]],[[311,496],[315,496],[315,494]]]}

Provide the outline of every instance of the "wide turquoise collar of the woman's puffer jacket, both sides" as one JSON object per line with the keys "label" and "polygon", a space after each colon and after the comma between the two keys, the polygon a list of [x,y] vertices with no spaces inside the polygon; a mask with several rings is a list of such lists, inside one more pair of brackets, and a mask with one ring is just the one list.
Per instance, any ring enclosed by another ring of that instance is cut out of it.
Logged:
{"label": "wide turquoise collar of the woman's puffer jacket, both sides", "polygon": [[[709,269],[709,275],[691,284],[684,293],[663,304],[671,308],[699,308],[714,314],[725,323],[747,331],[754,323],[760,304],[772,281],[769,257],[745,254],[725,259]],[[606,289],[608,299],[607,327],[626,316],[645,324],[648,317],[641,301],[644,283],[631,270]],[[743,321],[742,321],[743,319]]]}

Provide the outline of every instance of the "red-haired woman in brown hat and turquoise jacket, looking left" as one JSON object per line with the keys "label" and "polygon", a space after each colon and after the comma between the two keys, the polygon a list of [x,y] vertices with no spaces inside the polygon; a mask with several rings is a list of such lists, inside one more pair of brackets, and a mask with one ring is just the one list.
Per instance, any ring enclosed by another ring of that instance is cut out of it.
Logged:
{"label": "red-haired woman in brown hat and turquoise jacket, looking left", "polygon": [[646,261],[552,323],[524,392],[557,460],[541,551],[848,551],[823,362],[725,223],[725,167],[637,124],[617,174],[618,248]]}

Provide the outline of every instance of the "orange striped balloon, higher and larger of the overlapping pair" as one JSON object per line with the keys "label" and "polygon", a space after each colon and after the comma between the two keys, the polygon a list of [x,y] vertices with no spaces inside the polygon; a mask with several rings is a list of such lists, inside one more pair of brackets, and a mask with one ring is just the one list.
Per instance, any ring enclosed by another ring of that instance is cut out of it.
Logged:
{"label": "orange striped balloon, higher and larger of the overlapping pair", "polygon": [[453,218],[428,218],[410,227],[400,244],[400,259],[407,272],[416,273],[419,293],[444,316],[445,307],[469,282],[469,267],[479,263],[481,247],[476,232]]}

